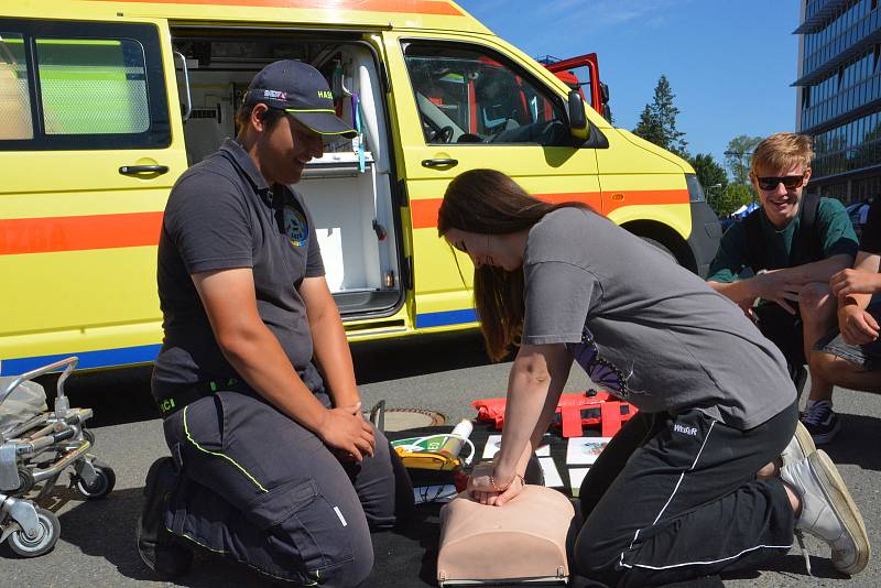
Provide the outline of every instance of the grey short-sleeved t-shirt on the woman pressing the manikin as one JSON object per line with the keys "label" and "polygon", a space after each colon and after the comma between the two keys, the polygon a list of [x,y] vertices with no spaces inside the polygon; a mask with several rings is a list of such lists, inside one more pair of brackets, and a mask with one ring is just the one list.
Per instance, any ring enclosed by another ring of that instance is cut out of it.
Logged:
{"label": "grey short-sleeved t-shirt on the woman pressing the manikin", "polygon": [[523,342],[567,344],[595,383],[641,411],[699,409],[747,429],[795,402],[780,350],[736,304],[606,218],[548,214],[523,273]]}

